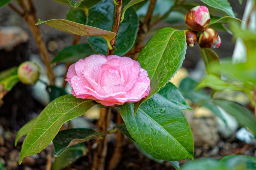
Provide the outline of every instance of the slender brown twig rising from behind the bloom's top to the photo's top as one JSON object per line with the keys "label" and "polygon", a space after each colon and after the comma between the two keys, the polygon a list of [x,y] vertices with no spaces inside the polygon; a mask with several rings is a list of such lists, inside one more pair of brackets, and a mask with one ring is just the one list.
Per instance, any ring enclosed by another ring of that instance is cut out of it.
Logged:
{"label": "slender brown twig rising from behind the bloom's top to the photo's top", "polygon": [[[120,20],[121,20],[121,10],[122,10],[123,0],[118,0],[116,2],[118,3],[118,5],[116,5],[116,8],[115,8],[115,19],[114,19],[112,32],[116,33],[116,36],[117,36]],[[113,55],[114,53],[115,45],[116,45],[116,36],[110,41],[110,45],[113,47],[113,49],[112,50],[108,49],[107,55]]]}

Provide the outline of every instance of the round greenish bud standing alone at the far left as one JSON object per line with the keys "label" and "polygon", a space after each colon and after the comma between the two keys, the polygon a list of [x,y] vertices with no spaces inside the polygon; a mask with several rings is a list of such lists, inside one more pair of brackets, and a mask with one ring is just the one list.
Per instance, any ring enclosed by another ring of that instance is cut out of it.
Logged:
{"label": "round greenish bud standing alone at the far left", "polygon": [[37,64],[25,61],[18,68],[19,80],[24,84],[34,84],[39,78],[40,68]]}

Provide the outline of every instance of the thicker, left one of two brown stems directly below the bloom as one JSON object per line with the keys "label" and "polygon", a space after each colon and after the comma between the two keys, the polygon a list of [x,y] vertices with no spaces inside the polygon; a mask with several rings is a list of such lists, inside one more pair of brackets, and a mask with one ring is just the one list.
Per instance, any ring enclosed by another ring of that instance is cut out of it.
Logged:
{"label": "thicker, left one of two brown stems directly below the bloom", "polygon": [[[111,118],[111,108],[101,108],[100,118],[98,120],[98,132],[106,131],[109,127]],[[92,170],[104,170],[105,158],[107,155],[107,138],[104,136],[103,139],[98,140],[97,148],[94,152],[94,161]]]}

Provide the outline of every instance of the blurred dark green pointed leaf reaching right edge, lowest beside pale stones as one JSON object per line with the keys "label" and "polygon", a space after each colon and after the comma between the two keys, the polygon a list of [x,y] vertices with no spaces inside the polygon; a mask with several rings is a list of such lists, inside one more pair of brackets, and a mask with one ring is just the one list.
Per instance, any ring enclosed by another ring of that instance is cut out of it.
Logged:
{"label": "blurred dark green pointed leaf reaching right edge, lowest beside pale stones", "polygon": [[243,105],[222,99],[214,99],[214,103],[234,116],[242,126],[248,127],[252,130],[256,136],[256,119],[253,116],[252,111],[245,108]]}

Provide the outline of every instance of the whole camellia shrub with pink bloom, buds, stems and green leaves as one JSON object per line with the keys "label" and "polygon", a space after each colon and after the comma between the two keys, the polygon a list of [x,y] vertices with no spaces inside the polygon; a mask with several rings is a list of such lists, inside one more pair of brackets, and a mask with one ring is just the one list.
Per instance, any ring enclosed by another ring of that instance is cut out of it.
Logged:
{"label": "whole camellia shrub with pink bloom, buds, stems and green leaves", "polygon": [[[223,108],[237,118],[241,126],[256,134],[256,120],[252,111],[239,103],[214,98],[217,91],[238,90],[246,93],[252,106],[255,106],[252,92],[256,93],[256,53],[252,47],[256,44],[256,34],[247,27],[243,30],[240,28],[243,22],[235,18],[228,0],[201,0],[200,3],[170,0],[170,10],[158,19],[152,16],[155,5],[159,3],[161,6],[161,0],[55,1],[70,6],[67,18],[55,19],[52,16],[51,20],[39,19],[37,23],[35,14],[27,12],[33,10],[32,1],[17,1],[25,12],[23,16],[30,25],[47,68],[48,88],[59,94],[53,97],[49,92],[51,102],[38,117],[19,130],[15,145],[25,136],[19,164],[25,157],[39,153],[53,141],[56,157],[53,169],[63,169],[77,157],[67,162],[61,162],[58,158],[67,157],[72,151],[81,151],[78,157],[83,156],[86,149],[81,143],[89,142],[89,145],[97,143],[91,158],[92,169],[104,169],[106,136],[116,133],[114,154],[118,153],[118,147],[124,140],[123,134],[153,159],[168,161],[180,169],[178,161],[193,159],[194,155],[191,128],[182,111],[192,108],[185,98],[194,105],[210,109],[221,119],[224,118],[218,108]],[[2,0],[0,6],[9,2]],[[136,9],[141,6],[147,10],[145,15],[138,17]],[[144,45],[147,32],[159,21],[167,19],[172,11],[185,16],[182,22],[187,28],[157,29]],[[61,50],[52,61],[45,55],[44,42],[39,38],[42,37],[38,31],[41,24],[74,34],[73,45]],[[232,32],[234,38],[240,37],[247,50],[246,62],[220,64],[213,48],[225,48],[225,44],[221,44],[217,31]],[[87,37],[88,43],[77,44],[80,36]],[[199,83],[185,78],[178,89],[170,80],[182,66],[187,46],[195,48],[196,44],[200,47],[207,76]],[[67,65],[64,79],[71,86],[68,91],[70,95],[65,95],[63,89],[55,86],[52,64],[57,62]],[[1,72],[1,93],[9,92],[18,81],[34,84],[39,74],[39,67],[32,62],[24,62],[19,67]],[[226,79],[222,79],[221,75]],[[234,83],[234,80],[238,83]],[[204,87],[210,87],[211,94],[202,90]],[[60,131],[63,124],[86,114],[95,105],[101,108],[96,130],[71,128]],[[116,125],[110,127],[113,108],[118,110]],[[119,151],[119,154],[124,153]],[[118,156],[112,158],[119,159]],[[229,166],[228,163],[236,159],[243,163],[245,169],[255,168],[255,158],[237,156],[220,161],[210,158],[189,161],[182,169],[233,169],[236,165]],[[114,169],[116,165],[111,163],[109,169]]]}

